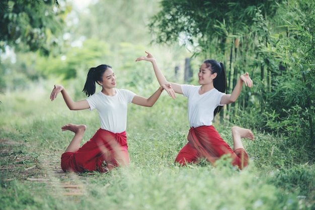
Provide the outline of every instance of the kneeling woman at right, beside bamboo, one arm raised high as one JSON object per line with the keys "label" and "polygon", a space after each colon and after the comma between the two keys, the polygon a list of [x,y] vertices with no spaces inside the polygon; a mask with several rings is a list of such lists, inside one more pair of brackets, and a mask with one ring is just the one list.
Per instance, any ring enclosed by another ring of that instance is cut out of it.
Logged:
{"label": "kneeling woman at right, beside bamboo, one arm raised high", "polygon": [[191,129],[188,133],[188,143],[181,149],[176,157],[176,162],[185,165],[195,163],[199,158],[206,158],[215,165],[215,161],[224,154],[230,154],[232,164],[243,169],[248,165],[248,155],[244,149],[241,138],[254,140],[254,135],[249,129],[232,127],[233,150],[220,137],[212,126],[214,116],[220,111],[222,106],[234,102],[241,93],[243,83],[252,87],[253,81],[248,73],[241,75],[235,85],[232,94],[225,94],[225,72],[223,64],[215,60],[205,60],[199,69],[199,84],[177,84],[168,82],[157,66],[154,57],[145,52],[147,56],[142,56],[136,61],[150,61],[157,80],[161,84],[171,84],[167,92],[175,98],[175,92],[188,97],[188,119]]}

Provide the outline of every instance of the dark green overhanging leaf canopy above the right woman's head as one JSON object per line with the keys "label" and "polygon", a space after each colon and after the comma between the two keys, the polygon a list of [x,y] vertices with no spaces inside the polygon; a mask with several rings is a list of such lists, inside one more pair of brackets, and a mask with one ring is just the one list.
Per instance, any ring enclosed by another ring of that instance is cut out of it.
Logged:
{"label": "dark green overhanging leaf canopy above the right woman's head", "polygon": [[224,52],[228,36],[246,34],[246,27],[254,24],[255,10],[268,11],[272,16],[278,2],[281,1],[162,1],[162,10],[152,16],[149,29],[157,43],[180,41],[198,46],[193,51],[211,54],[214,52],[209,47],[214,44],[219,45],[216,51]]}

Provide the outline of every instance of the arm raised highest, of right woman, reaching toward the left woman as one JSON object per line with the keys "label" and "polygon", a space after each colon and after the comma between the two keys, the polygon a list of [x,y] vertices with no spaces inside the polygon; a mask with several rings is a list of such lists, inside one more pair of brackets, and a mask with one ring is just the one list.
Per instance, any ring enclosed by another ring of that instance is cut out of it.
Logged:
{"label": "arm raised highest, of right woman, reaching toward the left woman", "polygon": [[145,53],[147,54],[147,56],[141,56],[139,58],[136,59],[136,61],[141,61],[141,60],[145,60],[145,61],[149,61],[152,63],[153,65],[153,69],[154,69],[154,73],[155,76],[157,78],[157,81],[159,81],[160,85],[163,84],[171,84],[171,88],[166,88],[166,91],[169,93],[169,95],[174,99],[176,97],[175,92],[183,94],[182,92],[182,87],[180,84],[174,83],[174,82],[168,82],[165,78],[165,76],[163,75],[161,69],[159,68],[159,66],[156,63],[155,58],[153,57],[152,54],[150,54],[149,52],[145,51]]}

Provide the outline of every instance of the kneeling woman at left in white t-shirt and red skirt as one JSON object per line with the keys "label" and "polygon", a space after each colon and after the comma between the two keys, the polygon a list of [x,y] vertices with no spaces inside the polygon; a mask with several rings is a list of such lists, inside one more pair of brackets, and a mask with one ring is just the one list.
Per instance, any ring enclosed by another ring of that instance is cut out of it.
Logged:
{"label": "kneeling woman at left in white t-shirt and red skirt", "polygon": [[[102,91],[96,94],[96,83]],[[70,110],[96,109],[99,113],[101,128],[82,147],[81,141],[85,133],[85,125],[68,124],[62,131],[72,131],[74,137],[61,156],[63,171],[85,172],[109,170],[129,164],[126,137],[127,104],[134,103],[144,107],[152,107],[164,88],[161,85],[149,98],[145,98],[126,89],[116,89],[116,76],[111,66],[99,65],[88,72],[83,88],[88,98],[73,101],[61,85],[54,85],[50,99],[54,100],[59,92]]]}

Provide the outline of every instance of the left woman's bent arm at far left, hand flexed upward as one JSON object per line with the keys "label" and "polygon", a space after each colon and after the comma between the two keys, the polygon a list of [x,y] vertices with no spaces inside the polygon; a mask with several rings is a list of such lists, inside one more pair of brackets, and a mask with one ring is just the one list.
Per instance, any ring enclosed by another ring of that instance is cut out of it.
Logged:
{"label": "left woman's bent arm at far left, hand flexed upward", "polygon": [[64,87],[61,85],[54,85],[54,88],[52,89],[50,94],[51,101],[53,101],[57,97],[59,92],[61,92],[62,97],[67,104],[69,110],[85,110],[90,108],[87,100],[79,100],[76,102],[73,101],[70,95],[68,95],[68,93],[65,91]]}

